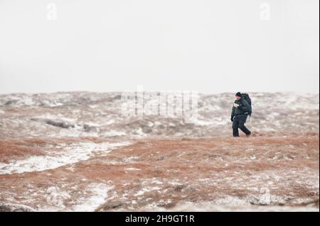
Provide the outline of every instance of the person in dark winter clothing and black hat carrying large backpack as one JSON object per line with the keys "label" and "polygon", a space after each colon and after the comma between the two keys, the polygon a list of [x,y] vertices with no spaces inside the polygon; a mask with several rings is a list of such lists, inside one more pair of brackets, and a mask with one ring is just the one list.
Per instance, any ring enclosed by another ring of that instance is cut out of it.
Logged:
{"label": "person in dark winter clothing and black hat carrying large backpack", "polygon": [[238,92],[235,94],[235,103],[233,103],[233,111],[231,113],[231,122],[233,122],[233,137],[239,137],[239,130],[245,132],[245,135],[249,137],[251,135],[250,130],[245,127],[245,122],[247,116],[251,115],[251,100],[249,95],[247,95],[248,101],[245,99],[244,95]]}

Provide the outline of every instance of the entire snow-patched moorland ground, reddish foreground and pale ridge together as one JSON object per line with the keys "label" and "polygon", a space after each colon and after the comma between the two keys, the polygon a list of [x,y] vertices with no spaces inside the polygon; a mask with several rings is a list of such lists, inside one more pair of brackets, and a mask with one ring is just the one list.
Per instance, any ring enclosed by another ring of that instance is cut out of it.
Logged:
{"label": "entire snow-patched moorland ground, reddish foreground and pale ridge together", "polygon": [[0,210],[319,211],[319,95],[250,96],[235,140],[233,94],[192,123],[126,117],[119,93],[1,95]]}

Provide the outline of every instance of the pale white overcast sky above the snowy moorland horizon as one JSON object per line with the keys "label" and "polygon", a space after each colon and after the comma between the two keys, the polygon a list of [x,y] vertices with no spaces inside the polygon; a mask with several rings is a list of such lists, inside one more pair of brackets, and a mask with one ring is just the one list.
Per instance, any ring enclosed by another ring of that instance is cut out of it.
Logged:
{"label": "pale white overcast sky above the snowy moorland horizon", "polygon": [[1,94],[137,85],[319,93],[319,0],[0,0]]}

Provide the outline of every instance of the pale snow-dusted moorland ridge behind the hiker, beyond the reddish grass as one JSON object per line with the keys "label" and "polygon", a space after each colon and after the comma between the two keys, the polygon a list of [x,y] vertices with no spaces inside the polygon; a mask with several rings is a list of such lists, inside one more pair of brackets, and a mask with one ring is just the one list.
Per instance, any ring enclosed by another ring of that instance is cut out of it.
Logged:
{"label": "pale snow-dusted moorland ridge behind the hiker, beyond the reddish grass", "polygon": [[[257,132],[319,132],[319,94],[252,93]],[[0,95],[0,138],[6,137],[212,137],[230,134],[234,94],[198,98],[198,117],[122,114],[121,93]],[[146,98],[147,105],[152,99]],[[61,128],[62,127],[62,128]]]}

